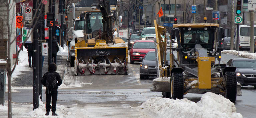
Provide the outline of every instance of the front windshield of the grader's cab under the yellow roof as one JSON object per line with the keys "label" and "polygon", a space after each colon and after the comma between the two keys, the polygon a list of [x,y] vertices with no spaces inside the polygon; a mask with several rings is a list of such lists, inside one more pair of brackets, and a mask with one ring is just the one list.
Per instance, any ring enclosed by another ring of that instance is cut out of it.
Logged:
{"label": "front windshield of the grader's cab under the yellow roof", "polygon": [[181,44],[184,49],[194,48],[195,44],[200,44],[203,48],[213,49],[214,44],[214,29],[208,28],[191,28],[188,30],[187,27],[183,28],[181,32]]}

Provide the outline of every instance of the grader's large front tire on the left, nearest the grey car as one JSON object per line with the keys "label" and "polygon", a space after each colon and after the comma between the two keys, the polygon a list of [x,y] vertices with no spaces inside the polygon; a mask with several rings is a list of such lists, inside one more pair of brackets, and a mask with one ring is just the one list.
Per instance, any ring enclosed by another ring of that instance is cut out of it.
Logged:
{"label": "grader's large front tire on the left, nearest the grey car", "polygon": [[170,93],[173,99],[183,99],[184,96],[184,79],[182,73],[173,72],[170,83]]}

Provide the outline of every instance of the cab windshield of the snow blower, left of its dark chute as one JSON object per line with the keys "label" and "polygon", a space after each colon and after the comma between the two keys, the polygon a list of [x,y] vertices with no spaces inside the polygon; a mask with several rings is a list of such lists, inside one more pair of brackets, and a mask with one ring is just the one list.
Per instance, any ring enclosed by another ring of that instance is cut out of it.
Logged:
{"label": "cab windshield of the snow blower, left of its dark chute", "polygon": [[90,18],[90,26],[92,29],[92,32],[97,31],[99,29],[103,30],[102,27],[102,14],[101,12],[91,12]]}

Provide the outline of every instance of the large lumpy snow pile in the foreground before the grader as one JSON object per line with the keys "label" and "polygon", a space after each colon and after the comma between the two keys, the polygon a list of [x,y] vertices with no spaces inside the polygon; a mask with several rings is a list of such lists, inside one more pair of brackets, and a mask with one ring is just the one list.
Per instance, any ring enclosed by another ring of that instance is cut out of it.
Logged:
{"label": "large lumpy snow pile in the foreground before the grader", "polygon": [[205,93],[197,103],[186,98],[152,98],[141,105],[146,114],[158,118],[242,118],[234,103],[222,95]]}

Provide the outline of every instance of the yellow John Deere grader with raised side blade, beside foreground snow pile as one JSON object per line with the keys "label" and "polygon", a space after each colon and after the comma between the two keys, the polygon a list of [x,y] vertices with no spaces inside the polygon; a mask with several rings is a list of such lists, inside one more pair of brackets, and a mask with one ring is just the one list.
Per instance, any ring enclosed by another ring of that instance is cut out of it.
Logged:
{"label": "yellow John Deere grader with raised side blade, beside foreground snow pile", "polygon": [[[235,102],[241,96],[237,85],[236,67],[220,64],[221,39],[224,31],[219,24],[173,24],[170,38],[177,38],[177,58],[170,49],[166,60],[166,28],[156,21],[155,51],[158,78],[151,91],[160,91],[164,97],[182,99],[184,94],[213,92]],[[165,36],[164,41],[161,35]],[[170,46],[172,47],[172,46]]]}

